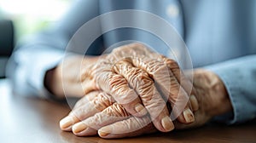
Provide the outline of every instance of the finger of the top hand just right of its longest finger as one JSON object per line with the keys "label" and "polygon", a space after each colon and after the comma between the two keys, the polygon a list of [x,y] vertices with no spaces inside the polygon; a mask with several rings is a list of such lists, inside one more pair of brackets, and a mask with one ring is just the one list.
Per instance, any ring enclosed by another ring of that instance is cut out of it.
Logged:
{"label": "finger of the top hand just right of its longest finger", "polygon": [[[177,77],[173,75],[170,67],[166,66],[163,62],[152,59],[133,59],[133,64],[148,72],[154,78],[155,83],[158,85],[164,97],[172,103],[171,117],[173,120],[178,118],[182,123],[191,123],[194,121],[194,116],[190,116],[191,112],[189,112],[189,95],[177,82]],[[184,112],[183,109],[185,109]]]}

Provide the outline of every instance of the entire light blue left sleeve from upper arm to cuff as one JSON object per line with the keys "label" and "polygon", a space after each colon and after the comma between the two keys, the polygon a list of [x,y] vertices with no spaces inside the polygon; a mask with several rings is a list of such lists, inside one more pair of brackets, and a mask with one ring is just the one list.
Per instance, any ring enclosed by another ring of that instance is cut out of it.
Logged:
{"label": "entire light blue left sleeve from upper arm to cuff", "polygon": [[26,38],[15,48],[6,71],[15,94],[42,98],[50,96],[44,87],[45,73],[60,63],[73,34],[98,15],[97,8],[98,1],[74,1],[61,20],[47,30]]}

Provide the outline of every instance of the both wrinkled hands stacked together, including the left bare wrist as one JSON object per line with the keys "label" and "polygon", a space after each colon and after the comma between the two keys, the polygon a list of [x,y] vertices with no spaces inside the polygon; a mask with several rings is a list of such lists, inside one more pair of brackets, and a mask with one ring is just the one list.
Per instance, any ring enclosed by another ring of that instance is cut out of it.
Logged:
{"label": "both wrinkled hands stacked together, including the left bare wrist", "polygon": [[140,43],[94,60],[75,57],[63,63],[55,70],[63,75],[55,76],[59,85],[53,93],[61,97],[65,91],[67,96],[83,98],[61,120],[62,130],[79,136],[98,133],[103,138],[119,138],[168,132],[175,128],[173,122],[183,127],[195,121],[193,112],[199,105],[192,83],[177,62]]}

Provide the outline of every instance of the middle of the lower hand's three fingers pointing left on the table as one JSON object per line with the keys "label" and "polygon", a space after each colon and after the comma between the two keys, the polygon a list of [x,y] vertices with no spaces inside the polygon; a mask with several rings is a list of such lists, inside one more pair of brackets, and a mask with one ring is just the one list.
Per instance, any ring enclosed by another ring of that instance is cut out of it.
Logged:
{"label": "middle of the lower hand's three fingers pointing left on the table", "polygon": [[96,113],[93,117],[86,118],[84,121],[73,125],[73,134],[78,136],[96,135],[97,130],[102,127],[116,123],[130,117],[125,108],[117,103],[108,106],[102,112]]}

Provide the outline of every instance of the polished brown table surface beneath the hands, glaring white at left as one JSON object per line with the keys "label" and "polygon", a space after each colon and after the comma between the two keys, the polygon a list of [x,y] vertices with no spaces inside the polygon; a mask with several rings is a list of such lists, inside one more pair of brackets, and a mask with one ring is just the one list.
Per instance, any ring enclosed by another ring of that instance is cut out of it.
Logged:
{"label": "polished brown table surface beneath the hands, glaring white at left", "polygon": [[11,94],[8,80],[0,80],[0,142],[256,142],[256,122],[224,126],[209,124],[199,129],[148,134],[134,138],[104,140],[97,136],[77,137],[59,129],[69,106],[55,101]]}

